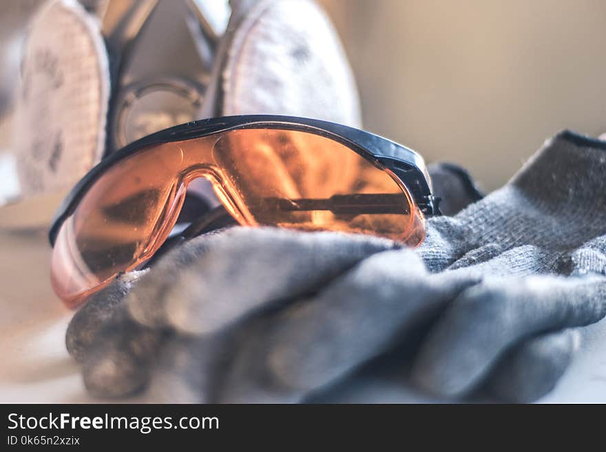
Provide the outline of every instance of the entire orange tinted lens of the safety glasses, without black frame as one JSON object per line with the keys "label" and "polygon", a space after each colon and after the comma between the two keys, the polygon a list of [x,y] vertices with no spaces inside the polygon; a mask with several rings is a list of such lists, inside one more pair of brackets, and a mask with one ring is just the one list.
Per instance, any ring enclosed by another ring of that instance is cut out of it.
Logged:
{"label": "entire orange tinted lens of the safety glasses, without black frame", "polygon": [[207,177],[241,224],[423,239],[422,215],[388,171],[331,138],[238,129],[158,144],[118,161],[56,237],[51,279],[77,305],[149,259],[174,226],[187,184]]}

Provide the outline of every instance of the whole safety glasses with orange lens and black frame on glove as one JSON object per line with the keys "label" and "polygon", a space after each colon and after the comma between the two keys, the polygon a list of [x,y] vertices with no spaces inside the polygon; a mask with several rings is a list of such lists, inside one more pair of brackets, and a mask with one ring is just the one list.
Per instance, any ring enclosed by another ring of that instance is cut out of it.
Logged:
{"label": "whole safety glasses with orange lens and black frame on glove", "polygon": [[[247,226],[372,234],[417,246],[424,215],[437,213],[423,159],[372,133],[286,116],[189,122],[110,155],[67,196],[50,229],[56,294],[74,307],[143,266],[167,242],[187,186],[200,177]],[[177,237],[207,230],[213,215]]]}

